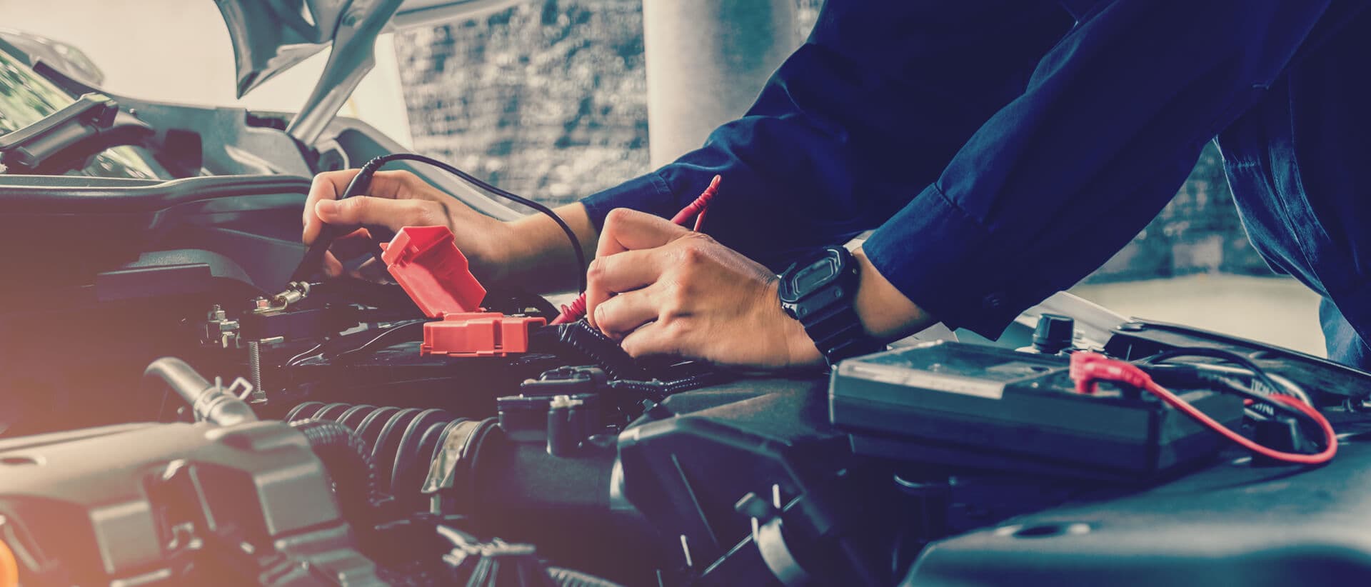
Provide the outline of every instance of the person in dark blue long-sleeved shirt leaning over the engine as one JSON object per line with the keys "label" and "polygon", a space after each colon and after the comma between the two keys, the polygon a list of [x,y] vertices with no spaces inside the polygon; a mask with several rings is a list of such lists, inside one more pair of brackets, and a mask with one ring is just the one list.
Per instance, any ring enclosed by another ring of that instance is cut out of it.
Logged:
{"label": "person in dark blue long-sleeved shirt leaning over the engine", "polygon": [[[1331,358],[1371,368],[1366,4],[828,0],[744,117],[558,208],[594,254],[588,317],[633,355],[758,368],[934,321],[997,337],[1127,244],[1217,137],[1250,240],[1323,296]],[[546,217],[495,221],[407,173],[333,202],[354,173],[315,178],[306,243],[321,221],[446,224],[484,280],[546,291],[580,270]],[[662,218],[714,174],[709,236]],[[823,324],[787,315],[775,270],[868,229],[845,259],[856,291]]]}

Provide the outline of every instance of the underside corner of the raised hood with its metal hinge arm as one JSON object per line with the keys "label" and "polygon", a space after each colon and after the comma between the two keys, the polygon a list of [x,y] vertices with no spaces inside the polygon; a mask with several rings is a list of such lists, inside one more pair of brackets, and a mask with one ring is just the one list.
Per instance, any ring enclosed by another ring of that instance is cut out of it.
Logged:
{"label": "underside corner of the raised hood with its metal hinge arm", "polygon": [[520,0],[215,0],[233,41],[237,95],[329,44],[333,52],[289,132],[311,143],[376,64],[376,37],[393,27],[473,18]]}

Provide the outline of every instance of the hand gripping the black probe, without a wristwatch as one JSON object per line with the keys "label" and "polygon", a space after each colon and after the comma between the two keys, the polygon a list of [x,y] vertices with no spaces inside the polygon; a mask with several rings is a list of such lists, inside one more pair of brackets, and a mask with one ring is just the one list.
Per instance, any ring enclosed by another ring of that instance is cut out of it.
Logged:
{"label": "hand gripping the black probe, without a wristwatch", "polygon": [[[457,248],[470,261],[472,273],[481,280],[498,277],[507,256],[500,243],[510,241],[510,225],[472,210],[410,171],[377,171],[365,196],[336,202],[356,173],[348,169],[315,176],[304,200],[306,245],[314,244],[325,224],[341,235],[324,258],[324,273],[337,277],[344,273],[343,261],[372,250],[370,235],[363,225],[389,230],[447,226],[452,230]],[[385,269],[376,266],[374,259],[351,273],[352,277],[373,280],[384,274]]]}

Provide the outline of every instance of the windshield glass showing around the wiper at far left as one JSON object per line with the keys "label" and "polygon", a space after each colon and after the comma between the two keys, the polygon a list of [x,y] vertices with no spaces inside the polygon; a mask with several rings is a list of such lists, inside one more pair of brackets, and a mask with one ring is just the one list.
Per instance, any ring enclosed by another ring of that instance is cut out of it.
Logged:
{"label": "windshield glass showing around the wiper at far left", "polygon": [[[32,125],[75,100],[8,52],[0,51],[0,134]],[[158,178],[133,147],[106,149],[75,176]]]}

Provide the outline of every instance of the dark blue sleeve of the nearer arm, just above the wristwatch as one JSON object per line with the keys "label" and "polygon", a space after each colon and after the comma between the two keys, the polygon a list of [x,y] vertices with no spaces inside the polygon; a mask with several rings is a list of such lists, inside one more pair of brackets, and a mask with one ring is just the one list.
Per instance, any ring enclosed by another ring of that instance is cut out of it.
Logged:
{"label": "dark blue sleeve of the nearer arm, just above the wristwatch", "polygon": [[910,300],[998,336],[1175,195],[1254,104],[1323,1],[1102,1],[865,251]]}

